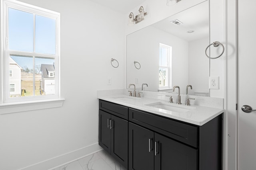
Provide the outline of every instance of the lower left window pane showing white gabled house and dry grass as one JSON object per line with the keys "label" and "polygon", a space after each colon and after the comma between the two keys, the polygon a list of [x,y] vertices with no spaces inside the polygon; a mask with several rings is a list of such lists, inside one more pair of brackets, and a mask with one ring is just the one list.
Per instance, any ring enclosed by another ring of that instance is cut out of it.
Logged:
{"label": "lower left window pane showing white gabled house and dry grass", "polygon": [[14,92],[10,91],[10,97],[33,96],[33,58],[10,56],[10,69],[9,83],[15,87]]}

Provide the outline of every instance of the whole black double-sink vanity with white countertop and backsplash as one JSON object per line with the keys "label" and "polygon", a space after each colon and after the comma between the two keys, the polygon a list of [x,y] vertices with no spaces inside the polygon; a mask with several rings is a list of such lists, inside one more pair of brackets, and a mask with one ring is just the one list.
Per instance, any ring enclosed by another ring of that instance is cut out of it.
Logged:
{"label": "whole black double-sink vanity with white countertop and backsplash", "polygon": [[135,98],[126,91],[98,92],[99,145],[124,167],[222,169],[221,99],[218,108],[207,106],[212,101],[205,101],[214,98],[201,96],[186,106],[184,101],[169,103],[165,94],[146,92]]}

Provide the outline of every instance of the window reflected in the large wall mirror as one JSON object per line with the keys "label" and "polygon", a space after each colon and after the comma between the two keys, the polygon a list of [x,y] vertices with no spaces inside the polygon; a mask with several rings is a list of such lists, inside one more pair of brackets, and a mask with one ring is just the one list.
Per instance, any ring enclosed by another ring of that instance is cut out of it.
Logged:
{"label": "window reflected in the large wall mirror", "polygon": [[172,61],[172,47],[159,44],[159,89],[170,88],[172,82],[170,78],[170,68]]}

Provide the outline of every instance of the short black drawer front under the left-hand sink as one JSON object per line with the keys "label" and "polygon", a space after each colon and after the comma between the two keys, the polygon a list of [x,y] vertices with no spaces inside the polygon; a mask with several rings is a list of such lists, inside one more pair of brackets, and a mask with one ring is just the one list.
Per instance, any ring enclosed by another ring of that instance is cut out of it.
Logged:
{"label": "short black drawer front under the left-hand sink", "polygon": [[128,107],[100,100],[100,109],[128,120]]}

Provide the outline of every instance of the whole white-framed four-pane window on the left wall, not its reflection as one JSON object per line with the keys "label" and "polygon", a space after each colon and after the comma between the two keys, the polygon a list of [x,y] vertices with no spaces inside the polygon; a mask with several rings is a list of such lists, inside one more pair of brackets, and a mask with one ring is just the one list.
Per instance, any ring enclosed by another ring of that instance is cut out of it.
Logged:
{"label": "whole white-framed four-pane window on the left wall, not its reflection", "polygon": [[[4,63],[2,65],[6,82],[3,87],[5,89],[3,102],[59,98],[60,14],[18,1],[3,0],[3,4],[3,18],[6,20],[4,20],[2,29],[7,37],[3,43],[5,53],[3,53]],[[21,86],[16,87],[20,88],[20,92],[15,96],[11,95],[11,90],[8,87],[10,82],[14,81],[10,80],[11,63],[9,58],[12,58],[14,63],[20,66],[19,76],[17,76],[18,71],[12,71],[12,76],[20,77],[16,81],[21,84]],[[56,74],[54,80],[50,82],[53,86],[51,93],[48,94],[40,93],[44,91],[41,89],[43,81],[40,66],[42,64],[54,65],[54,73]],[[9,72],[8,76],[7,72]]]}

